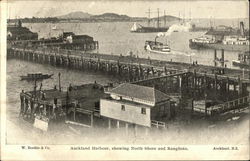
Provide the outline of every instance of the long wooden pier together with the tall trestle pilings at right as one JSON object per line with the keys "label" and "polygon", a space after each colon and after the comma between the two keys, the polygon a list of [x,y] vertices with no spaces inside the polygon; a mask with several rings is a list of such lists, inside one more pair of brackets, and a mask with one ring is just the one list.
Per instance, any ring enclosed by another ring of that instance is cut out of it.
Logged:
{"label": "long wooden pier together with the tall trestle pilings at right", "polygon": [[[11,47],[7,50],[7,58],[112,74],[125,82],[155,87],[180,99],[183,107],[190,104],[185,101],[189,99],[209,100],[215,104],[223,104],[249,97],[250,72],[242,73],[241,70],[225,67],[52,48]],[[246,102],[249,103],[249,99],[246,99]],[[212,105],[206,108],[210,106]]]}

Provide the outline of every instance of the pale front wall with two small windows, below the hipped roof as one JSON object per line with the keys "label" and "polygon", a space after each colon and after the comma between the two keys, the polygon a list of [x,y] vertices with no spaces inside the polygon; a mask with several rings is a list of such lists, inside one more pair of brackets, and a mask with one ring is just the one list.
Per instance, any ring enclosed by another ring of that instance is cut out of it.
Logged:
{"label": "pale front wall with two small windows, below the hipped roof", "polygon": [[[125,111],[121,110],[121,105],[125,105]],[[141,108],[146,108],[146,114],[141,114]],[[122,101],[101,99],[100,101],[101,116],[121,120],[129,123],[135,123],[142,126],[151,126],[150,108],[146,106],[136,106],[126,104]]]}

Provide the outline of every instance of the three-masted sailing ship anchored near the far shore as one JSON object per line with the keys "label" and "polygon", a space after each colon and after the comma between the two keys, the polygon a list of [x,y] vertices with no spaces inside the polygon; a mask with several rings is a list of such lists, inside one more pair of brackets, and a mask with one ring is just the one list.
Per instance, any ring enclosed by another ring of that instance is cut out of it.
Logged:
{"label": "three-masted sailing ship anchored near the far shore", "polygon": [[[167,32],[169,27],[160,27],[160,17],[159,17],[159,9],[158,9],[158,17],[157,17],[157,26],[156,27],[151,27],[150,26],[150,9],[148,11],[149,18],[148,18],[148,26],[142,26],[140,24],[134,23],[132,28],[130,29],[130,32],[136,32],[136,33],[152,33],[152,32]],[[166,16],[164,12],[164,24],[166,24]]]}

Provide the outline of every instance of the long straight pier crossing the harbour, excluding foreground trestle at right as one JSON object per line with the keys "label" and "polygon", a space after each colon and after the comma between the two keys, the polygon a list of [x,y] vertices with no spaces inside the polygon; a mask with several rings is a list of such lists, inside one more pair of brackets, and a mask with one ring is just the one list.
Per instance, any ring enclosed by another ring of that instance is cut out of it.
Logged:
{"label": "long straight pier crossing the harbour, excluding foreground trestle at right", "polygon": [[222,79],[229,77],[238,80],[240,78],[243,82],[250,82],[250,71],[243,73],[239,69],[75,50],[11,47],[7,50],[7,58],[19,58],[71,69],[108,71],[126,77],[125,80],[129,82],[183,71],[196,71],[198,74],[206,73],[212,76],[216,74]]}

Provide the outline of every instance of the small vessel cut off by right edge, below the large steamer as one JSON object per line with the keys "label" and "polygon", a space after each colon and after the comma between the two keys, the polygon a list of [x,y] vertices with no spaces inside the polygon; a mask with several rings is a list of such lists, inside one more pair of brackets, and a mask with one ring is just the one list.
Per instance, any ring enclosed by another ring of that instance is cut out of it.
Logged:
{"label": "small vessel cut off by right edge, below the large steamer", "polygon": [[248,67],[250,69],[250,51],[239,53],[238,60],[233,60],[232,62],[234,66]]}

